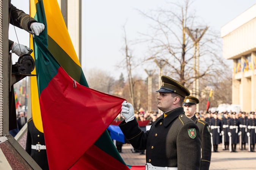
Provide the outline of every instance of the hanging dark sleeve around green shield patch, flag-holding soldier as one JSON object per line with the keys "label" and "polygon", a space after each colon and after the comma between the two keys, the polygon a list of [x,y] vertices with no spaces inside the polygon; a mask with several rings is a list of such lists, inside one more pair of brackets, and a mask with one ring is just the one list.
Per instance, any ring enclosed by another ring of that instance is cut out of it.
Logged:
{"label": "hanging dark sleeve around green shield patch, flag-holding soldier", "polygon": [[[189,129],[196,130],[196,137],[190,138]],[[192,163],[193,162],[193,163]],[[177,135],[177,165],[178,170],[199,170],[201,162],[201,134],[194,122],[186,123]]]}

